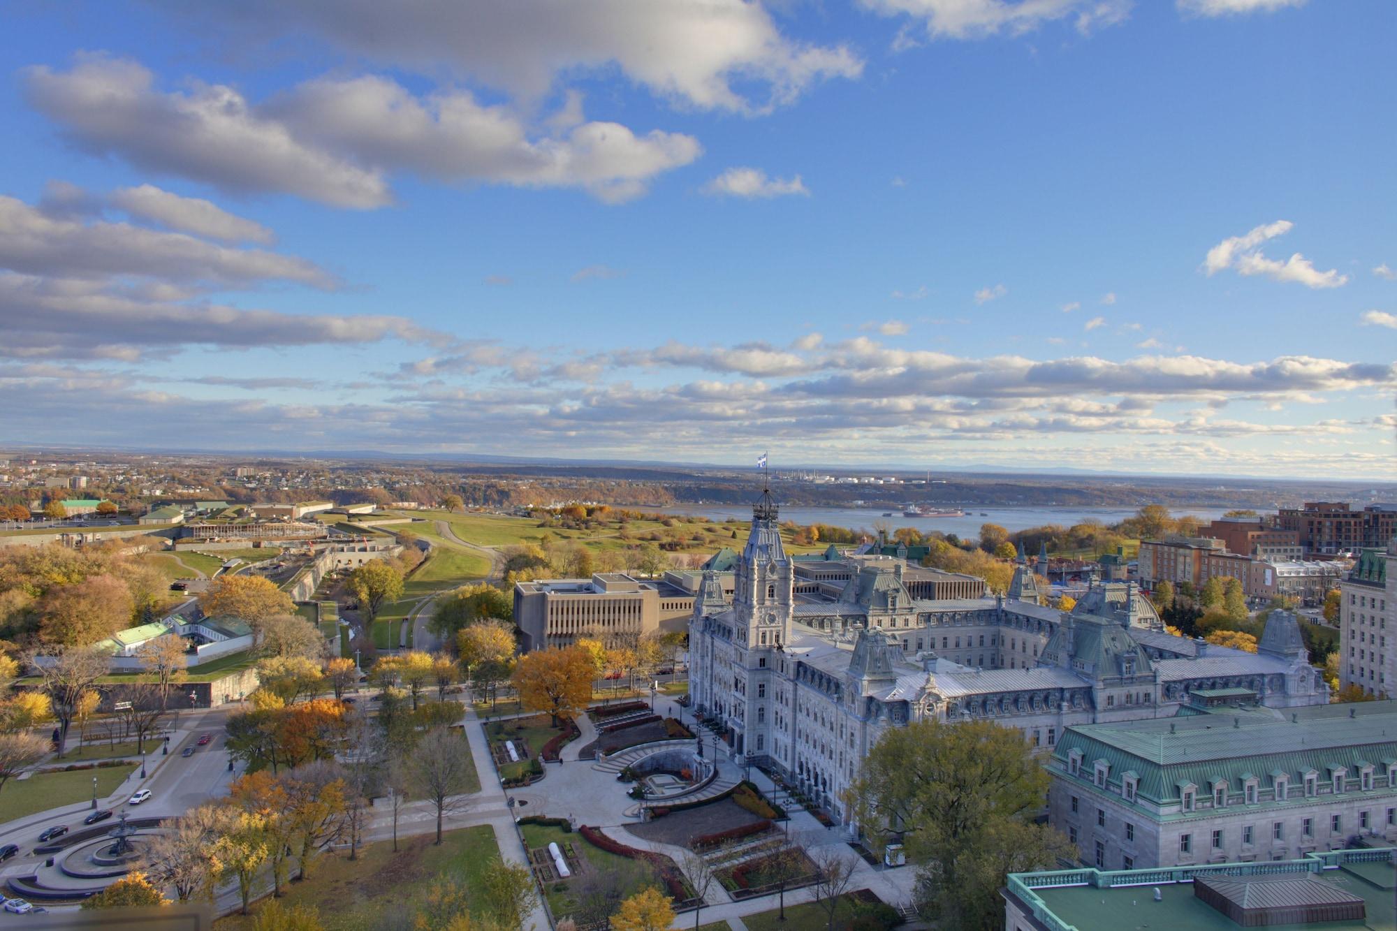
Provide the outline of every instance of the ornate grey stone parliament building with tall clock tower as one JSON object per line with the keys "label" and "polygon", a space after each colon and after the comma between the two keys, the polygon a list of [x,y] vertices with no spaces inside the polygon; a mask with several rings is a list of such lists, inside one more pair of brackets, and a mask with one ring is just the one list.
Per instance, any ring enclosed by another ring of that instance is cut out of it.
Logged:
{"label": "ornate grey stone parliament building with tall clock tower", "polygon": [[733,756],[845,823],[859,762],[914,720],[989,719],[1046,756],[1067,727],[1172,717],[1193,692],[1243,689],[1270,709],[1329,702],[1292,614],[1271,614],[1259,653],[1206,644],[1165,633],[1133,582],[1095,584],[1058,611],[1023,554],[1006,597],[914,598],[912,570],[887,555],[844,558],[831,594],[798,586],[809,573],[787,555],[777,516],[763,491],[731,575],[701,575],[690,700],[722,721]]}

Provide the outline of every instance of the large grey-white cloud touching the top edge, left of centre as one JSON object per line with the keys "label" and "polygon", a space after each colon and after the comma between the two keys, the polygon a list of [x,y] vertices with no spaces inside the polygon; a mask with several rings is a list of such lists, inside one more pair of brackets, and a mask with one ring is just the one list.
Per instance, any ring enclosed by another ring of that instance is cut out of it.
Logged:
{"label": "large grey-white cloud touching the top edge, left of centre", "polygon": [[176,8],[194,29],[249,45],[319,35],[380,64],[432,77],[446,70],[531,99],[559,75],[619,68],[664,98],[752,113],[863,68],[847,46],[781,35],[763,4],[745,0],[247,0]]}

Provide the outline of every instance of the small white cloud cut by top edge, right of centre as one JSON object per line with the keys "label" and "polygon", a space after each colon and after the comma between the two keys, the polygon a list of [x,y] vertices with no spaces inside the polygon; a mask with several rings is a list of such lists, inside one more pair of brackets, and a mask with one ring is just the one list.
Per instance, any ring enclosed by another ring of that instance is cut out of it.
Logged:
{"label": "small white cloud cut by top edge, right of centre", "polygon": [[[999,32],[1020,35],[1045,22],[1071,20],[1078,32],[1122,22],[1132,0],[861,0],[884,15],[907,14],[925,21],[933,39],[979,39]],[[898,32],[894,50],[915,46]]]}

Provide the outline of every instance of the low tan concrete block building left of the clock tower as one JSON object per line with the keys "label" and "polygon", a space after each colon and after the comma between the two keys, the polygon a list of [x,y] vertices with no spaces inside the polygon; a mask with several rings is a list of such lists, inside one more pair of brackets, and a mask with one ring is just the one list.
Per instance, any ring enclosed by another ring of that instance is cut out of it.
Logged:
{"label": "low tan concrete block building left of the clock tower", "polygon": [[692,591],[620,572],[514,583],[514,623],[525,651],[571,646],[578,637],[615,643],[657,630],[683,630],[693,608]]}

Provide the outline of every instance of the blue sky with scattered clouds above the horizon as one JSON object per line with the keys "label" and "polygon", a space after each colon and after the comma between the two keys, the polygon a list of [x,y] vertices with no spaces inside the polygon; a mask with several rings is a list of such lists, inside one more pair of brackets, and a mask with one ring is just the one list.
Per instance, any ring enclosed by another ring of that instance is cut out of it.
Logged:
{"label": "blue sky with scattered clouds above the horizon", "polygon": [[1391,0],[0,11],[0,442],[1394,475]]}

